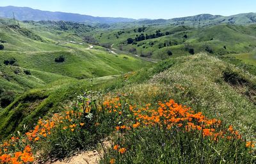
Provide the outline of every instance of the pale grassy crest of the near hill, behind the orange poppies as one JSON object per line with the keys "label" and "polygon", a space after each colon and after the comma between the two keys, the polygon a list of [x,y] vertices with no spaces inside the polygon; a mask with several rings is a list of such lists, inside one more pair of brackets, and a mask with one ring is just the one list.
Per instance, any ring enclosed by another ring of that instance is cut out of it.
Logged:
{"label": "pale grassy crest of the near hill, behind the orange poppies", "polygon": [[120,82],[120,87],[125,93],[131,92],[134,101],[173,98],[196,112],[235,124],[244,133],[250,129],[254,135],[255,78],[233,64],[198,54],[168,59],[154,68],[140,70],[125,82],[127,86]]}

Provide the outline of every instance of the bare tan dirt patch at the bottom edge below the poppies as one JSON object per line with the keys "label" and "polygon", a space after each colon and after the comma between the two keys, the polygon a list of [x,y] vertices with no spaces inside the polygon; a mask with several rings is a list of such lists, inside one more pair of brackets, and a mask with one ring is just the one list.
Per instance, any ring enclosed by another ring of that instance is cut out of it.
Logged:
{"label": "bare tan dirt patch at the bottom edge below the poppies", "polygon": [[83,153],[77,154],[76,156],[72,156],[72,158],[68,158],[62,161],[54,161],[48,162],[46,164],[98,164],[100,158],[103,157],[104,151],[107,147],[111,146],[111,142],[104,141],[102,145],[100,145],[99,150],[93,151],[85,151]]}

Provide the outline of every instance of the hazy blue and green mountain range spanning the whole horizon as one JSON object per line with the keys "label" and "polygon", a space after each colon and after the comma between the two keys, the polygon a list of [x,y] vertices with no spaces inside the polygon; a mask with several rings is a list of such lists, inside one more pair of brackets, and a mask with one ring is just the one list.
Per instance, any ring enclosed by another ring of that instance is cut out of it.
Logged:
{"label": "hazy blue and green mountain range spanning the whole horizon", "polygon": [[139,24],[173,24],[173,25],[191,25],[191,26],[209,26],[211,24],[252,24],[256,23],[256,13],[240,13],[228,17],[221,15],[200,14],[191,17],[181,17],[175,19],[127,19],[112,17],[93,17],[90,15],[81,15],[77,13],[63,13],[35,10],[27,7],[5,6],[0,7],[0,17],[13,18],[17,20],[54,20],[70,21],[83,23],[113,24],[118,22],[137,22]]}

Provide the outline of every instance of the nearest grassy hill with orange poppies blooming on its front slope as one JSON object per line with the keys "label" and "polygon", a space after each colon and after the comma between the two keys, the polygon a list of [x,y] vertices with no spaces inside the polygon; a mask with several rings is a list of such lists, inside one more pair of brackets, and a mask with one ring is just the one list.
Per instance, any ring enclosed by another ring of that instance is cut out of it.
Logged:
{"label": "nearest grassy hill with orange poppies blooming on its front slope", "polygon": [[[65,106],[72,91],[90,85],[80,82],[54,82],[20,96],[1,115],[8,116],[0,119],[4,130],[36,123],[41,114],[49,116],[24,137],[34,151],[41,150],[42,162],[70,156],[75,149],[95,149],[109,135],[111,145],[104,149],[101,163],[255,162],[251,141],[256,138],[256,77],[217,57],[176,57],[120,77],[95,79],[93,97],[86,92],[71,107]],[[51,103],[56,98],[62,101]]]}

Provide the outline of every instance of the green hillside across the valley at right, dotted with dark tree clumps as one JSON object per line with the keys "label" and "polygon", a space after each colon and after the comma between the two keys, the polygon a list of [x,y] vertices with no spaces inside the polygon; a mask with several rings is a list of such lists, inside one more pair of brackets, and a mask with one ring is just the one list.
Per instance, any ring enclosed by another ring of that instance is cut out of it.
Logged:
{"label": "green hillside across the valley at right, dotted with dark tree clumps", "polygon": [[[94,38],[99,43],[114,44],[114,48],[130,51],[138,56],[166,59],[198,52],[214,55],[252,52],[256,45],[253,31],[255,25],[221,24],[199,29],[193,26],[135,26],[99,31]],[[143,36],[140,37],[141,35]],[[128,38],[133,40],[132,43],[127,43]],[[136,38],[139,40],[136,41]],[[189,53],[190,49],[193,49],[193,53]]]}

